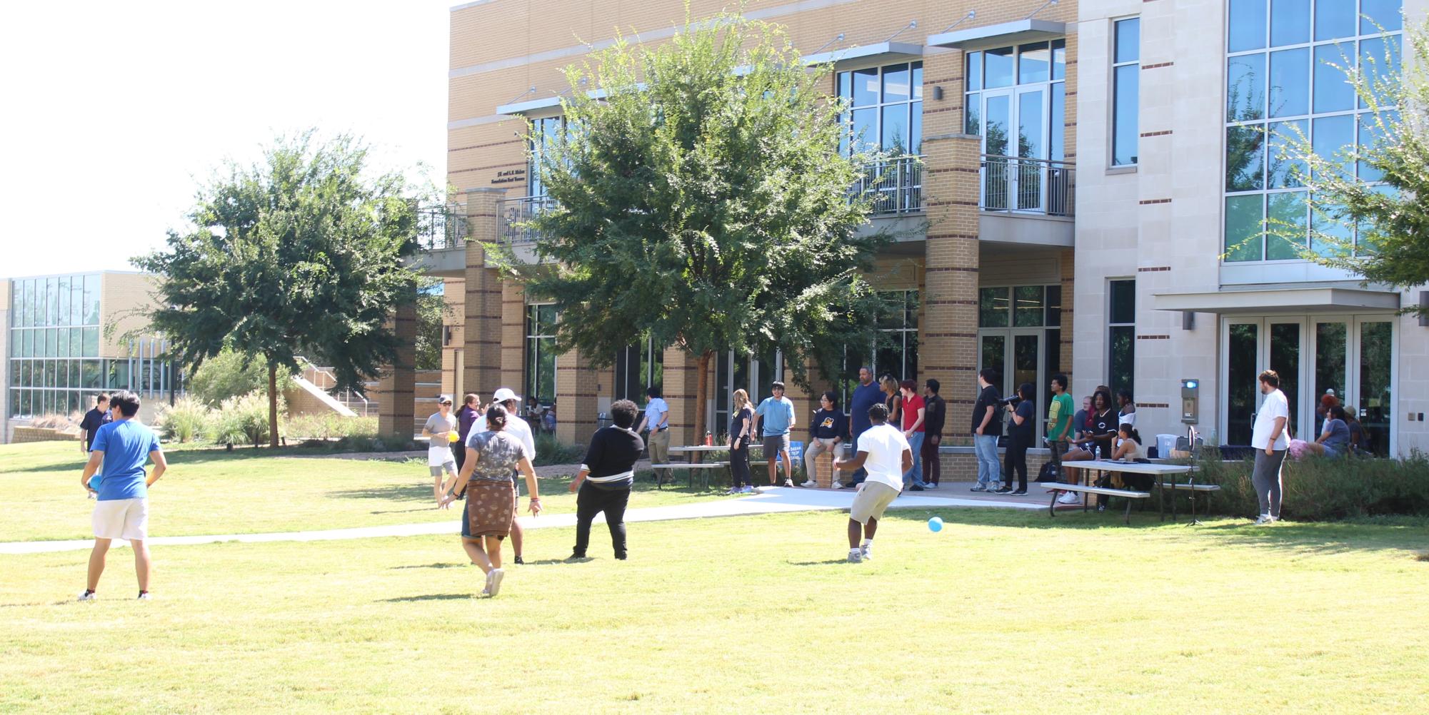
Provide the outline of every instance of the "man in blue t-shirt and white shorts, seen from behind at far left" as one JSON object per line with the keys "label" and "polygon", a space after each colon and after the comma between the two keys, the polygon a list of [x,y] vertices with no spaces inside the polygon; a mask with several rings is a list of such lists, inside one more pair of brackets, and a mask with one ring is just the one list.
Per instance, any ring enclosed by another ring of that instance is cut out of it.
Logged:
{"label": "man in blue t-shirt and white shorts, seen from behind at far left", "polygon": [[[99,471],[99,501],[94,504],[94,551],[90,552],[89,582],[80,601],[93,601],[99,577],[104,574],[104,557],[113,539],[129,539],[134,549],[134,572],[139,575],[139,598],[149,599],[149,487],[153,487],[169,462],[159,448],[153,430],[134,420],[139,395],[120,390],[110,398],[117,410],[114,421],[101,425],[90,445],[90,460],[80,475],[80,485],[93,492],[90,477]],[[144,474],[144,464],[153,460],[154,474]],[[103,465],[103,468],[100,467]]]}

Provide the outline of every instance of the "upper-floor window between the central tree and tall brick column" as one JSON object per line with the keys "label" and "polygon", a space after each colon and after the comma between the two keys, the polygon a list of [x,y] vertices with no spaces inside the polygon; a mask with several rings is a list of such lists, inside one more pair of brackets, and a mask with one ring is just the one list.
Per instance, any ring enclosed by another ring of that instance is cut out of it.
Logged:
{"label": "upper-floor window between the central tree and tall brick column", "polygon": [[852,107],[840,117],[850,128],[839,141],[845,156],[860,147],[892,156],[923,153],[923,63],[840,71],[837,86]]}

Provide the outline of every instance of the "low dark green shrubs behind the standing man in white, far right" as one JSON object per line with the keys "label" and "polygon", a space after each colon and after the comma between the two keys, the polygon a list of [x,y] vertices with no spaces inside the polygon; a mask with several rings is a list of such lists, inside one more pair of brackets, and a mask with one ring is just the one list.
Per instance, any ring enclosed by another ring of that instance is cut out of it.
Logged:
{"label": "low dark green shrubs behind the standing man in white, far right", "polygon": [[[1212,500],[1218,514],[1252,517],[1259,509],[1250,485],[1252,461],[1225,462],[1206,450],[1198,480],[1220,485]],[[1283,507],[1289,519],[1329,521],[1379,515],[1429,515],[1429,460],[1413,452],[1405,460],[1309,457],[1286,461]]]}

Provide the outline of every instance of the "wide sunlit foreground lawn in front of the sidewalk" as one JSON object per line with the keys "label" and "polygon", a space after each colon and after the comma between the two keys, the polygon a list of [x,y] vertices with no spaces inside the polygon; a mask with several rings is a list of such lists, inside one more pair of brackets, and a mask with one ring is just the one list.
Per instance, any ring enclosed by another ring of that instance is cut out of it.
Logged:
{"label": "wide sunlit foreground lawn in front of the sidewalk", "polygon": [[529,538],[494,599],[453,538],[0,557],[0,712],[1426,712],[1423,522],[890,512]]}

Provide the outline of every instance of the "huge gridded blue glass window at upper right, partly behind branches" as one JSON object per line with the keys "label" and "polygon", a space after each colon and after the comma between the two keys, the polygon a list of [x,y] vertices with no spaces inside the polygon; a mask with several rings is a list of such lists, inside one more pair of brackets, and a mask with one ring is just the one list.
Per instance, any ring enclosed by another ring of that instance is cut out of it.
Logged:
{"label": "huge gridded blue glass window at upper right, partly behind branches", "polygon": [[[1229,0],[1226,23],[1228,261],[1293,260],[1309,245],[1308,190],[1279,157],[1288,140],[1306,137],[1332,158],[1379,141],[1373,111],[1346,83],[1345,69],[1399,73],[1402,0]],[[1360,17],[1365,14],[1366,17]],[[1383,27],[1383,33],[1380,33]],[[1386,120],[1393,111],[1386,111]],[[1365,181],[1368,166],[1345,167]],[[1305,227],[1306,238],[1263,235]],[[1349,241],[1348,227],[1316,230]]]}

